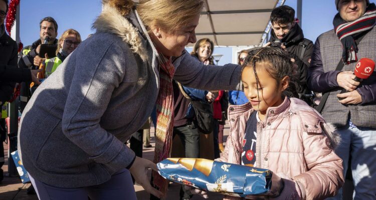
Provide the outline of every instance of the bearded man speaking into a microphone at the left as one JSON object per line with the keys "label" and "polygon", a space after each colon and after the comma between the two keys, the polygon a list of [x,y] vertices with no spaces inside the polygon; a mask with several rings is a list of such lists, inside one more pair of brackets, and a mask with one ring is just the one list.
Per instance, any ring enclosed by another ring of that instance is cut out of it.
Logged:
{"label": "bearded man speaking into a microphone at the left", "polygon": [[[46,59],[42,58],[42,56],[39,55],[41,44],[46,40],[46,37],[48,38],[48,43],[50,44],[55,44],[58,42],[58,40],[56,39],[56,36],[58,35],[58,24],[56,23],[54,18],[52,18],[51,16],[43,18],[39,23],[39,26],[40,38],[33,44],[25,46],[19,53],[18,65],[20,68],[38,69],[41,63]],[[23,111],[31,96],[29,85],[30,82],[23,82],[21,84],[21,111]]]}

